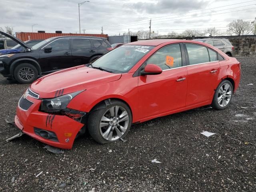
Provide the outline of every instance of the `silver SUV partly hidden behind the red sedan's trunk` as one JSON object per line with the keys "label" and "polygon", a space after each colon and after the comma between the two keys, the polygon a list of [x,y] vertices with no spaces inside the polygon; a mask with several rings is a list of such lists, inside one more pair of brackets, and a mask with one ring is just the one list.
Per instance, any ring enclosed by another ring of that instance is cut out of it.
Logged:
{"label": "silver SUV partly hidden behind the red sedan's trunk", "polygon": [[234,46],[230,43],[228,39],[225,38],[205,38],[205,39],[194,39],[194,41],[200,41],[208,43],[226,53],[228,56],[232,57],[234,55]]}

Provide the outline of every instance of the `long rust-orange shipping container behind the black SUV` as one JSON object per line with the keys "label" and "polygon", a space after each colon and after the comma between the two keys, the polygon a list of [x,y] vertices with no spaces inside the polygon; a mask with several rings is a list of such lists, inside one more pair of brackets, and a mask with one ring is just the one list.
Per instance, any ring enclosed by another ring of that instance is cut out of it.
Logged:
{"label": "long rust-orange shipping container behind the black SUV", "polygon": [[107,34],[73,34],[73,33],[35,33],[35,32],[16,32],[16,37],[22,41],[33,39],[48,39],[57,36],[94,36],[108,38]]}

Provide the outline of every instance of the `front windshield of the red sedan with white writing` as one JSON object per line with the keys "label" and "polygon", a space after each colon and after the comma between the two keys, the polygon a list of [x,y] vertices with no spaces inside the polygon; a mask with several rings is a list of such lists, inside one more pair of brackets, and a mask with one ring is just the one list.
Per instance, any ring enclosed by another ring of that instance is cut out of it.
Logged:
{"label": "front windshield of the red sedan with white writing", "polygon": [[90,66],[113,73],[126,73],[153,48],[154,46],[123,45],[104,54]]}

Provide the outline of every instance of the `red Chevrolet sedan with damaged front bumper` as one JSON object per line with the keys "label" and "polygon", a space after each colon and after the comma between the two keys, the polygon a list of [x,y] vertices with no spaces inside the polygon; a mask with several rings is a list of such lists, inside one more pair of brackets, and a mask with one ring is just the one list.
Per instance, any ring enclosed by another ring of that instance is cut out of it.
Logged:
{"label": "red Chevrolet sedan with damaged front bumper", "polygon": [[19,100],[15,124],[59,148],[72,148],[86,128],[104,144],[135,123],[205,105],[225,109],[239,82],[240,63],[209,44],[132,42],[36,80]]}

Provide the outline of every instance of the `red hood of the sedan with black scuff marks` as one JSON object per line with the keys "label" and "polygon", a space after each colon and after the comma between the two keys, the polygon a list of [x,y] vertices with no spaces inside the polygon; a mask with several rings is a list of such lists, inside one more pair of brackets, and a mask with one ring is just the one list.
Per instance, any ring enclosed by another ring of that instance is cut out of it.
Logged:
{"label": "red hood of the sedan with black scuff marks", "polygon": [[40,98],[54,98],[116,81],[122,74],[114,74],[86,66],[61,70],[33,82],[30,89]]}

